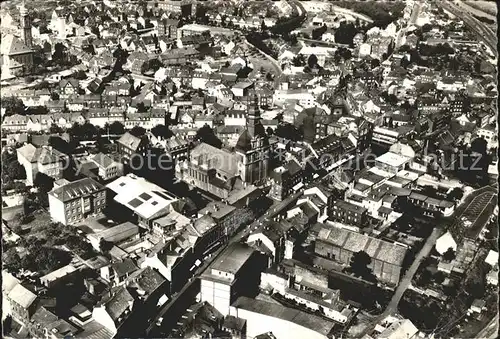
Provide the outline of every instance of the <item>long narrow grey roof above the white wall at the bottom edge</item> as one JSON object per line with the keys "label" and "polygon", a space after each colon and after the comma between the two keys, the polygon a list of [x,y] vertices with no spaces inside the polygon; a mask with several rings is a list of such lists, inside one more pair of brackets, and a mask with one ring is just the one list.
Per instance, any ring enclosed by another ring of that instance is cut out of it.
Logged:
{"label": "long narrow grey roof above the white wall at the bottom edge", "polygon": [[231,306],[286,320],[324,336],[327,336],[335,327],[334,321],[263,300],[240,297]]}

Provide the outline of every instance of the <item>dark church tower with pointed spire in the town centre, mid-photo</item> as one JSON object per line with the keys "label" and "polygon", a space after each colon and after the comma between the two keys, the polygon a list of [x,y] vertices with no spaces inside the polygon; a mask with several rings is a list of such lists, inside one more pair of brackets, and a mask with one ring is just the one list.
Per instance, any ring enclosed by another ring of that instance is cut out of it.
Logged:
{"label": "dark church tower with pointed spire in the town centre, mid-photo", "polygon": [[246,128],[235,149],[241,159],[238,164],[241,179],[248,184],[264,184],[269,172],[269,139],[261,123],[257,95],[249,105]]}

